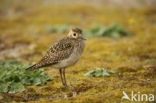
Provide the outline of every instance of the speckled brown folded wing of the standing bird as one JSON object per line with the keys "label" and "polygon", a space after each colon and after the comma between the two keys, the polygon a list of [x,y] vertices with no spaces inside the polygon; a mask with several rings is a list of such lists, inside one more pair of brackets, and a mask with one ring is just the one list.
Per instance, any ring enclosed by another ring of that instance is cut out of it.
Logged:
{"label": "speckled brown folded wing of the standing bird", "polygon": [[59,63],[61,60],[68,58],[73,52],[74,45],[69,38],[64,38],[54,44],[46,53],[46,55],[32,68],[41,68],[48,65]]}

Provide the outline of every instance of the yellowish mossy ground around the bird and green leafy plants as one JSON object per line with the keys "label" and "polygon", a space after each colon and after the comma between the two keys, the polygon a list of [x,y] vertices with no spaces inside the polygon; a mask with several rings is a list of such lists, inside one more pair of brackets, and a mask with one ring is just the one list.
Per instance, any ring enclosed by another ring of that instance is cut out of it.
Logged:
{"label": "yellowish mossy ground around the bird and green leafy plants", "polygon": [[[88,29],[96,24],[118,23],[133,35],[121,39],[88,38],[81,60],[66,70],[69,89],[62,87],[58,70],[49,67],[46,72],[54,77],[53,81],[45,86],[28,87],[22,93],[2,94],[2,102],[120,103],[122,91],[156,93],[154,12],[148,9],[54,5],[31,7],[15,11],[15,14],[0,19],[1,51],[24,46],[20,53],[25,52],[12,58],[30,64],[39,60],[53,42],[64,36],[47,32],[48,25],[72,24]],[[2,59],[10,59],[8,54],[3,56]],[[94,67],[106,67],[119,73],[106,78],[85,77],[84,74]]]}

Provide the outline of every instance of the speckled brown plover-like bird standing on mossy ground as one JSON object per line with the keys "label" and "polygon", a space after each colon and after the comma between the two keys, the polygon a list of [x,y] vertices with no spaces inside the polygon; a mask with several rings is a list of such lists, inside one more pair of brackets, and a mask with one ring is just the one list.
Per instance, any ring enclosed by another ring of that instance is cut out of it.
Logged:
{"label": "speckled brown plover-like bird standing on mossy ground", "polygon": [[59,70],[62,85],[68,87],[65,70],[78,62],[85,48],[85,40],[82,29],[77,27],[70,29],[67,36],[54,43],[45,55],[27,70],[56,68]]}

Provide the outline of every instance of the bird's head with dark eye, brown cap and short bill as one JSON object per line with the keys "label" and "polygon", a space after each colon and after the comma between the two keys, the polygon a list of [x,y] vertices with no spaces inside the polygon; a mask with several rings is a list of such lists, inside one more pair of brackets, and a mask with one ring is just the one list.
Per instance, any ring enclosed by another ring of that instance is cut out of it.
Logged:
{"label": "bird's head with dark eye, brown cap and short bill", "polygon": [[69,38],[73,38],[73,39],[79,39],[79,40],[86,40],[84,37],[83,37],[83,32],[81,29],[79,28],[72,28],[68,35],[67,35]]}

